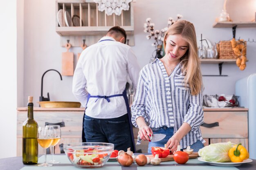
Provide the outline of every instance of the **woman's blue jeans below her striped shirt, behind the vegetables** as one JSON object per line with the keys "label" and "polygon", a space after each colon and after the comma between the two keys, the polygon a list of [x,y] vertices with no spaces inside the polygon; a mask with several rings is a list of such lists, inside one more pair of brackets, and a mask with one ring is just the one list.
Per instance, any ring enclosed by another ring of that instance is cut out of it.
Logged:
{"label": "woman's blue jeans below her striped shirt, behind the vegetables", "polygon": [[[151,129],[153,131],[153,134],[162,133],[162,134],[165,134],[166,137],[161,141],[149,142],[148,143],[148,153],[151,153],[151,147],[155,147],[155,146],[164,147],[164,144],[166,144],[167,141],[173,136],[173,131],[174,131],[173,128],[168,128],[166,126],[163,126],[161,128],[151,128]],[[193,152],[198,152],[198,150],[203,147],[204,147],[204,144],[200,140],[196,141],[193,145],[190,146],[190,148],[194,150]],[[182,148],[181,150],[183,150],[183,149],[185,149],[185,148]]]}

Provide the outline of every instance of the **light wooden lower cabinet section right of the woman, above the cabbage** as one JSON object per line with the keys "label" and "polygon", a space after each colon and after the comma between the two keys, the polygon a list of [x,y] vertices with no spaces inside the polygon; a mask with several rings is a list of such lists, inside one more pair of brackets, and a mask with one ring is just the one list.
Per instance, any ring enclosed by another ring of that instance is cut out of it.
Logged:
{"label": "light wooden lower cabinet section right of the woman, above the cabbage", "polygon": [[204,123],[218,126],[201,126],[202,137],[209,143],[231,141],[241,143],[248,150],[248,109],[246,108],[205,108]]}

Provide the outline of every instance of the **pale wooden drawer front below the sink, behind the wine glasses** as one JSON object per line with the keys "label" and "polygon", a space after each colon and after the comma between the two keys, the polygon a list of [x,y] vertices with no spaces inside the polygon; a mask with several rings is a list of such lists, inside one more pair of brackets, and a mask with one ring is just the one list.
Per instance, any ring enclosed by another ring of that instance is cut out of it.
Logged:
{"label": "pale wooden drawer front below the sink, behind the wine glasses", "polygon": [[[61,127],[61,137],[81,138],[83,128],[83,112],[35,112],[34,119],[38,126],[45,126],[45,122],[64,122],[65,127]],[[22,137],[22,124],[27,119],[27,112],[17,114],[17,137]]]}

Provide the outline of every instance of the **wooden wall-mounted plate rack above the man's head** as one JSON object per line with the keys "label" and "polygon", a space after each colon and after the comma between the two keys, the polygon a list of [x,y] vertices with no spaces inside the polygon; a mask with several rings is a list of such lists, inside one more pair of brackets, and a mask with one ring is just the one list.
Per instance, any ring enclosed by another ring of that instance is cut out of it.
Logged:
{"label": "wooden wall-mounted plate rack above the man's head", "polygon": [[[98,10],[98,4],[93,0],[56,0],[56,32],[61,35],[61,46],[65,46],[67,40],[72,46],[81,46],[83,39],[87,45],[94,44],[112,26],[121,26],[127,33],[129,45],[134,46],[132,2],[129,6],[129,10],[123,10],[121,15],[106,15],[105,11]],[[70,18],[69,25],[65,23],[65,18]]]}

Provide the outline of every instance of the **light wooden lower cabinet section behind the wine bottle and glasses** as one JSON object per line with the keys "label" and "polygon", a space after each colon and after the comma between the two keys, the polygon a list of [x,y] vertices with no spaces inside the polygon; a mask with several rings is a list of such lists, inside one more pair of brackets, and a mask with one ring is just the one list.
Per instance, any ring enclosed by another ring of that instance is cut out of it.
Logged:
{"label": "light wooden lower cabinet section behind the wine bottle and glasses", "polygon": [[[38,126],[48,123],[65,124],[61,127],[61,141],[55,146],[55,153],[60,153],[59,144],[82,142],[82,124],[84,108],[34,108],[34,119]],[[27,119],[27,108],[18,108],[17,114],[17,156],[22,156],[22,124]],[[43,148],[38,146],[39,154]]]}

